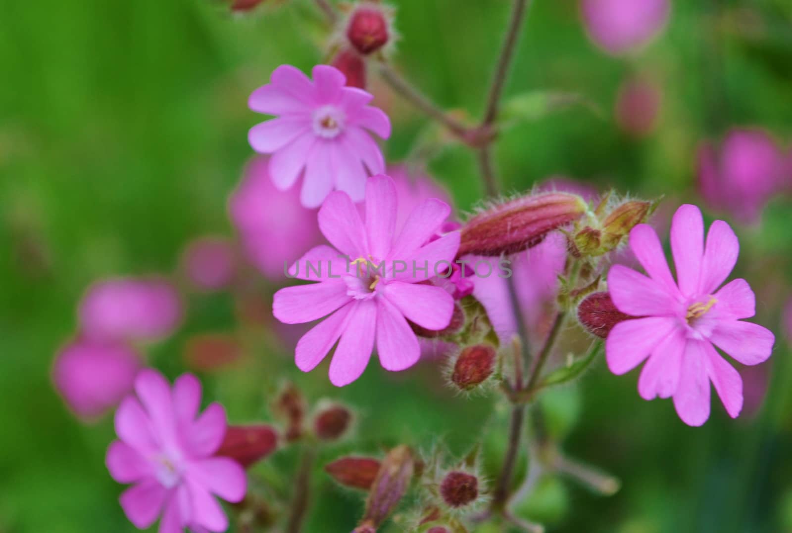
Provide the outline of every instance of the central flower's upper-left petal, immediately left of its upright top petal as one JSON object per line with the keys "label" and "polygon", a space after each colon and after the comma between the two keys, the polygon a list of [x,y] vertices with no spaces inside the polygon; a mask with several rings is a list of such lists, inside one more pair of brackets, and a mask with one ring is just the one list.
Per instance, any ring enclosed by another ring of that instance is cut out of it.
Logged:
{"label": "central flower's upper-left petal, immediately left of its upright top petal", "polygon": [[319,210],[318,221],[322,234],[341,253],[352,260],[367,255],[363,221],[346,193],[330,193]]}

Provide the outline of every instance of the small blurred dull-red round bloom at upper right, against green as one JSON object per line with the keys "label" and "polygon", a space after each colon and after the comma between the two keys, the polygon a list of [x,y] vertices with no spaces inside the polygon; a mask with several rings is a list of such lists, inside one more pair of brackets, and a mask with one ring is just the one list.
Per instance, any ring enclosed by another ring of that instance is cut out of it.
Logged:
{"label": "small blurred dull-red round bloom at upper right, against green", "polygon": [[662,100],[659,85],[648,77],[631,77],[623,82],[616,97],[616,123],[626,133],[644,137],[657,126]]}

